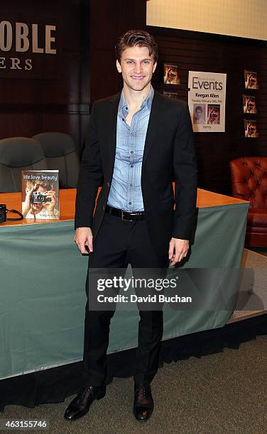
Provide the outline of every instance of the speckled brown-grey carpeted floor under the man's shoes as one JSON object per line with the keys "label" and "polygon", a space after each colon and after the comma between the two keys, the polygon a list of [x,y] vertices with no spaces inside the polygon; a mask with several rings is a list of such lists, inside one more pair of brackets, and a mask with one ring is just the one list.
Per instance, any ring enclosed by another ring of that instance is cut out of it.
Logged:
{"label": "speckled brown-grey carpeted floor under the man's shoes", "polygon": [[[262,267],[260,255],[249,256],[245,251],[246,266]],[[55,434],[267,433],[266,360],[267,336],[263,335],[243,343],[239,350],[226,348],[164,365],[152,384],[155,410],[145,424],[132,415],[132,379],[114,379],[106,397],[78,421],[62,418],[73,396],[64,403],[36,408],[6,406],[0,418],[46,420],[50,428],[45,432]]]}

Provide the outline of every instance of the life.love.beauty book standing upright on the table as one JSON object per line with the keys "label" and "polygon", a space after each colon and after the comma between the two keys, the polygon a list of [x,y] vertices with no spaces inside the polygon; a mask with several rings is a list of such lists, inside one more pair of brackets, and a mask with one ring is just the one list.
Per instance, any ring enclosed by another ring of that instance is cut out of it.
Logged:
{"label": "life.love.beauty book standing upright on the table", "polygon": [[23,170],[21,196],[24,218],[58,220],[60,218],[58,170]]}

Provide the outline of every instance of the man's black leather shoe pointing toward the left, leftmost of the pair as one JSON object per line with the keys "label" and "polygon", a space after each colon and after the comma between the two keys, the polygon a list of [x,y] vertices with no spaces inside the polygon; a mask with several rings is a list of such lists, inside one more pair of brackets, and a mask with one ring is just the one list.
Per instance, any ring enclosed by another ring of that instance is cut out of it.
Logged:
{"label": "man's black leather shoe pointing toward the left, leftmost of the pair", "polygon": [[105,394],[106,386],[84,387],[84,389],[80,391],[80,394],[78,394],[67,407],[64,418],[67,419],[67,421],[74,421],[77,418],[85,416],[85,414],[89,411],[94,399],[102,399],[104,398]]}

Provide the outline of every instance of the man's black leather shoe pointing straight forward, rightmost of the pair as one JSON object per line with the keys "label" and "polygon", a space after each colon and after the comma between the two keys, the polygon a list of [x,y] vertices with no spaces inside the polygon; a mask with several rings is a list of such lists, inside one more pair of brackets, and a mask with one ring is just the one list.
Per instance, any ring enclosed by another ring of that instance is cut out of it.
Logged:
{"label": "man's black leather shoe pointing straight forward, rightmost of the pair", "polygon": [[154,409],[154,402],[151,394],[151,386],[134,384],[133,414],[137,421],[146,422]]}

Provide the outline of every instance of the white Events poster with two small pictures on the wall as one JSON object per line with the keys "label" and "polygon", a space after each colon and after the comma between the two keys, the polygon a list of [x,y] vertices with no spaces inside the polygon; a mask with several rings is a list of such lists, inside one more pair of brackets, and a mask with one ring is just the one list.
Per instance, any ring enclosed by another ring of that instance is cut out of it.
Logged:
{"label": "white Events poster with two small pictures on the wall", "polygon": [[189,71],[188,106],[195,133],[225,131],[227,74]]}

